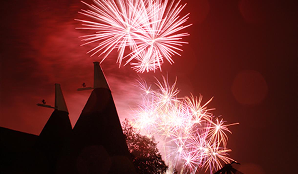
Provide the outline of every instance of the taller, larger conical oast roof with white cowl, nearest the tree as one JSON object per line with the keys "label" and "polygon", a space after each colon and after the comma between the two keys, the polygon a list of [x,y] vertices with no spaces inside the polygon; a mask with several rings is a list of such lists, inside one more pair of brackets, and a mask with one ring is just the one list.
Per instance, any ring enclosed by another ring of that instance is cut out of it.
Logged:
{"label": "taller, larger conical oast roof with white cowl, nearest the tree", "polygon": [[71,173],[134,173],[111,90],[98,62],[94,62],[94,90],[67,146],[71,146],[70,166],[76,166]]}

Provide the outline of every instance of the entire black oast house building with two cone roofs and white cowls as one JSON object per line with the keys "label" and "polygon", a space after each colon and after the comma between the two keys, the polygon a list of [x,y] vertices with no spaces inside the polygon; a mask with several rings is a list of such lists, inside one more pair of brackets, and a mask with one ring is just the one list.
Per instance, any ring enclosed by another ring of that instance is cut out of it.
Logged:
{"label": "entire black oast house building with two cone roofs and white cowls", "polygon": [[98,62],[94,87],[72,129],[59,84],[55,107],[39,136],[1,127],[2,173],[131,174],[128,147],[111,90]]}

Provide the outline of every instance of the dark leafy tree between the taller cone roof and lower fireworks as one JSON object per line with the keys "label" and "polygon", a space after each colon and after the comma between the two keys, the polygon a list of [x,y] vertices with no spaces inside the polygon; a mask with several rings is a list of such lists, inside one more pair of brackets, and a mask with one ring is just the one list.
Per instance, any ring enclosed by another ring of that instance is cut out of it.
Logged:
{"label": "dark leafy tree between the taller cone roof and lower fireworks", "polygon": [[156,147],[155,139],[141,135],[129,124],[128,119],[125,119],[122,127],[136,173],[165,173],[167,165],[162,160],[162,156]]}

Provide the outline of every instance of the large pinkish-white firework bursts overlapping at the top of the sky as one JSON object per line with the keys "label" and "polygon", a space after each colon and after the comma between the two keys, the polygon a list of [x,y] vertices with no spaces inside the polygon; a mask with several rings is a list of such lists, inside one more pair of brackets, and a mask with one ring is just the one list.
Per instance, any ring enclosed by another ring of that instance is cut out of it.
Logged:
{"label": "large pinkish-white firework bursts overlapping at the top of the sky", "polygon": [[[186,4],[180,1],[162,0],[93,0],[94,4],[83,2],[90,10],[82,10],[80,14],[91,20],[75,19],[82,22],[83,27],[95,31],[83,35],[83,45],[99,43],[87,52],[91,56],[103,56],[101,62],[113,51],[117,50],[117,63],[121,66],[130,63],[138,73],[161,69],[164,58],[173,64],[173,55],[183,51],[181,47],[187,42],[181,39],[189,34],[180,33],[192,24],[183,25],[188,15],[179,16]],[[129,48],[129,52],[126,48]],[[125,55],[126,54],[126,55]]]}

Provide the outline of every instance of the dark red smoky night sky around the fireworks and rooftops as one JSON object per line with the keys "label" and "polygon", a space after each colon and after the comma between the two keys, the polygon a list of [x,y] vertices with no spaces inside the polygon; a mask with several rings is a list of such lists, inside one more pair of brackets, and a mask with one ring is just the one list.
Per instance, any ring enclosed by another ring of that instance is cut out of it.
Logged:
{"label": "dark red smoky night sky around the fireworks and rooftops", "polygon": [[[86,1],[91,3],[90,0]],[[297,1],[187,1],[190,12],[181,57],[162,73],[139,74],[148,81],[177,76],[179,96],[202,94],[203,102],[228,122],[228,147],[243,173],[297,173]],[[54,84],[60,83],[75,125],[93,84],[92,58],[76,30],[86,9],[79,0],[1,1],[1,126],[38,135],[53,110]],[[86,19],[86,18],[84,18]],[[118,69],[116,52],[101,66],[121,120],[140,100],[138,74]]]}

